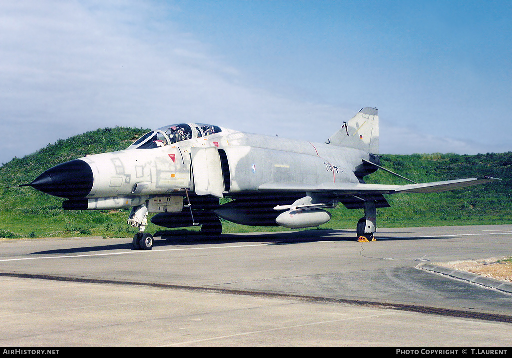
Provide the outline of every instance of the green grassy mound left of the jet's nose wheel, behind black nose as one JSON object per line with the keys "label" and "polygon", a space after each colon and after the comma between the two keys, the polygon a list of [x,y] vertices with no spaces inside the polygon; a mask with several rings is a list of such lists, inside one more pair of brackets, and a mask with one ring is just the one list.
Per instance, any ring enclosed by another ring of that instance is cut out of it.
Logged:
{"label": "green grassy mound left of the jet's nose wheel, behind black nose", "polygon": [[31,183],[45,170],[87,154],[126,149],[147,131],[149,129],[124,127],[98,129],[58,140],[4,164],[0,167],[0,237],[113,237],[129,233],[126,225],[129,212],[64,211],[62,198],[31,187],[8,187]]}

